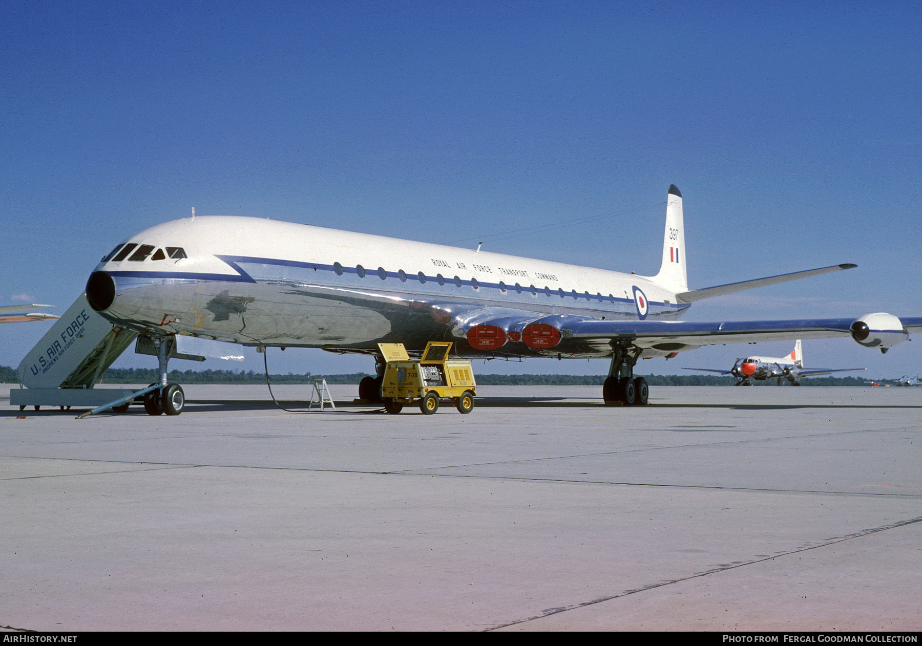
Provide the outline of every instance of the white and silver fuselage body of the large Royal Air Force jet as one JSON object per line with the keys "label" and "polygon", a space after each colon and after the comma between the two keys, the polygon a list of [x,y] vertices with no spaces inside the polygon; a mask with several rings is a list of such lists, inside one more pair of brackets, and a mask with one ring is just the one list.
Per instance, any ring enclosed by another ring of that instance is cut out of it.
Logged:
{"label": "white and silver fuselage body of the large Royal Air Force jet", "polygon": [[96,268],[116,285],[104,315],[248,345],[438,335],[409,321],[420,310],[463,327],[489,312],[672,320],[688,308],[649,277],[255,217],[175,220],[124,244]]}

